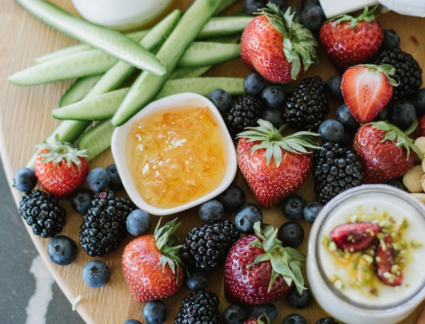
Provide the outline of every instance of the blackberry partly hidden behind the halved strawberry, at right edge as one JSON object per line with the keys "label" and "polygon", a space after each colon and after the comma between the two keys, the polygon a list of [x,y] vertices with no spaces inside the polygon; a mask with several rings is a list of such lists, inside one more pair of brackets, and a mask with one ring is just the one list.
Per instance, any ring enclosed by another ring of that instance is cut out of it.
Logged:
{"label": "blackberry partly hidden behind the halved strawberry, at right edge", "polygon": [[390,47],[380,52],[375,64],[391,64],[396,68],[396,74],[392,75],[392,78],[400,84],[394,87],[392,100],[412,98],[419,90],[422,84],[422,69],[410,54],[400,48]]}

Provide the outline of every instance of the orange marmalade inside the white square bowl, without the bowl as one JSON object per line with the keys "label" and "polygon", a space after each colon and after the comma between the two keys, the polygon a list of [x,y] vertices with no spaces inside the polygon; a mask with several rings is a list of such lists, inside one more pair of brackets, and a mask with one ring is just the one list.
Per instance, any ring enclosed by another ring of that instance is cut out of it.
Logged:
{"label": "orange marmalade inside the white square bowl, without the bowl", "polygon": [[139,194],[159,208],[207,194],[226,172],[224,139],[207,107],[174,107],[143,117],[130,131],[126,155]]}

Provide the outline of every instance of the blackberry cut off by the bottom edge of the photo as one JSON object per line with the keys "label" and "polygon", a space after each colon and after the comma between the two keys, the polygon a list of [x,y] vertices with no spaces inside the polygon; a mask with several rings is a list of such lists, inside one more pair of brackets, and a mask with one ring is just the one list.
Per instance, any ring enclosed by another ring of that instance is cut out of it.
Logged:
{"label": "blackberry cut off by the bottom edge of the photo", "polygon": [[198,290],[187,295],[182,302],[175,324],[221,324],[219,299],[213,292]]}

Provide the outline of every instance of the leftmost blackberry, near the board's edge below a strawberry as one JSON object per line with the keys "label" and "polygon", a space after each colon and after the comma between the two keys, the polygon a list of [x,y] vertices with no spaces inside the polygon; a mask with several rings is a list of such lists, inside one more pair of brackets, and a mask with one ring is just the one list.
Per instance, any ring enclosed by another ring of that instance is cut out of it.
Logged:
{"label": "leftmost blackberry, near the board's edge below a strawberry", "polygon": [[59,206],[59,199],[51,194],[33,190],[19,200],[19,214],[41,237],[53,237],[65,224],[66,210]]}

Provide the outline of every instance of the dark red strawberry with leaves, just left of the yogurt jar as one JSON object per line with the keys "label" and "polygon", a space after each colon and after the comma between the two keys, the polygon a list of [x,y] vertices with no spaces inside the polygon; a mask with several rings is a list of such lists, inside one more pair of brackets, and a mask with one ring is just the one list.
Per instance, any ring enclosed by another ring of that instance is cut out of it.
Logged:
{"label": "dark red strawberry with leaves, just left of the yogurt jar", "polygon": [[295,249],[283,247],[277,229],[260,222],[255,234],[247,235],[233,245],[224,269],[224,293],[231,303],[264,304],[281,298],[292,282],[302,294],[305,256]]}

